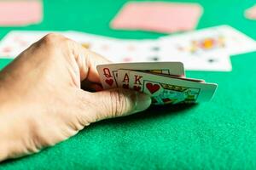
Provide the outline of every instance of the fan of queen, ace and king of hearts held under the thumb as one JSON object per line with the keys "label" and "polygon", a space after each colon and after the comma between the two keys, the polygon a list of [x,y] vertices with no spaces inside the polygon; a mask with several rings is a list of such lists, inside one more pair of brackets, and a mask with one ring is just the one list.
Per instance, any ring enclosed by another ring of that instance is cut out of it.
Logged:
{"label": "fan of queen, ace and king of hearts held under the thumb", "polygon": [[102,86],[148,94],[153,105],[197,103],[212,99],[217,84],[184,77],[183,63],[122,63],[97,65]]}

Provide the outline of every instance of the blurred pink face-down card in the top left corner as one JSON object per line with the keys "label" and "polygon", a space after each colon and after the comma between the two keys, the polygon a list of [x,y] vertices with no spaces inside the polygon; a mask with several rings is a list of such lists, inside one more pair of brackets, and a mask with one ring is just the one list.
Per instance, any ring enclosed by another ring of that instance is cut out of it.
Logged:
{"label": "blurred pink face-down card in the top left corner", "polygon": [[41,0],[1,0],[0,26],[27,26],[41,22]]}

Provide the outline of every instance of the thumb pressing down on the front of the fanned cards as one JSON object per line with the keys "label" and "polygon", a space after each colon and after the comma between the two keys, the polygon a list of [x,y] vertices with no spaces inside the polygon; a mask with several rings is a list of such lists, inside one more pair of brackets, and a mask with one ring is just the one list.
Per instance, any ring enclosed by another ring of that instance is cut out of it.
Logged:
{"label": "thumb pressing down on the front of the fanned cards", "polygon": [[150,96],[128,89],[110,89],[87,95],[90,95],[90,107],[95,116],[93,122],[131,115],[144,111],[151,105]]}

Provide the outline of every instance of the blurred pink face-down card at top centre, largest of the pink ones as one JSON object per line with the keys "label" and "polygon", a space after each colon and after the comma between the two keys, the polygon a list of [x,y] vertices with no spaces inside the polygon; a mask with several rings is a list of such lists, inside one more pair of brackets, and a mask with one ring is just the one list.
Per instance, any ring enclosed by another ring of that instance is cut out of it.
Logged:
{"label": "blurred pink face-down card at top centre, largest of the pink ones", "polygon": [[126,3],[111,22],[113,29],[170,33],[195,29],[202,8],[197,3]]}

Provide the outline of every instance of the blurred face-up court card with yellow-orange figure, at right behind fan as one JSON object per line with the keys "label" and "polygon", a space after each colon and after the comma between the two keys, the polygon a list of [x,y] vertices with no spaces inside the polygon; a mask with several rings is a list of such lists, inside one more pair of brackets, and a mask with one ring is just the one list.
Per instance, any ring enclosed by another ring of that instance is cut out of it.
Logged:
{"label": "blurred face-up court card with yellow-orange figure, at right behind fan", "polygon": [[256,50],[256,42],[230,26],[216,26],[160,38],[164,51],[186,56],[209,53],[243,54]]}

